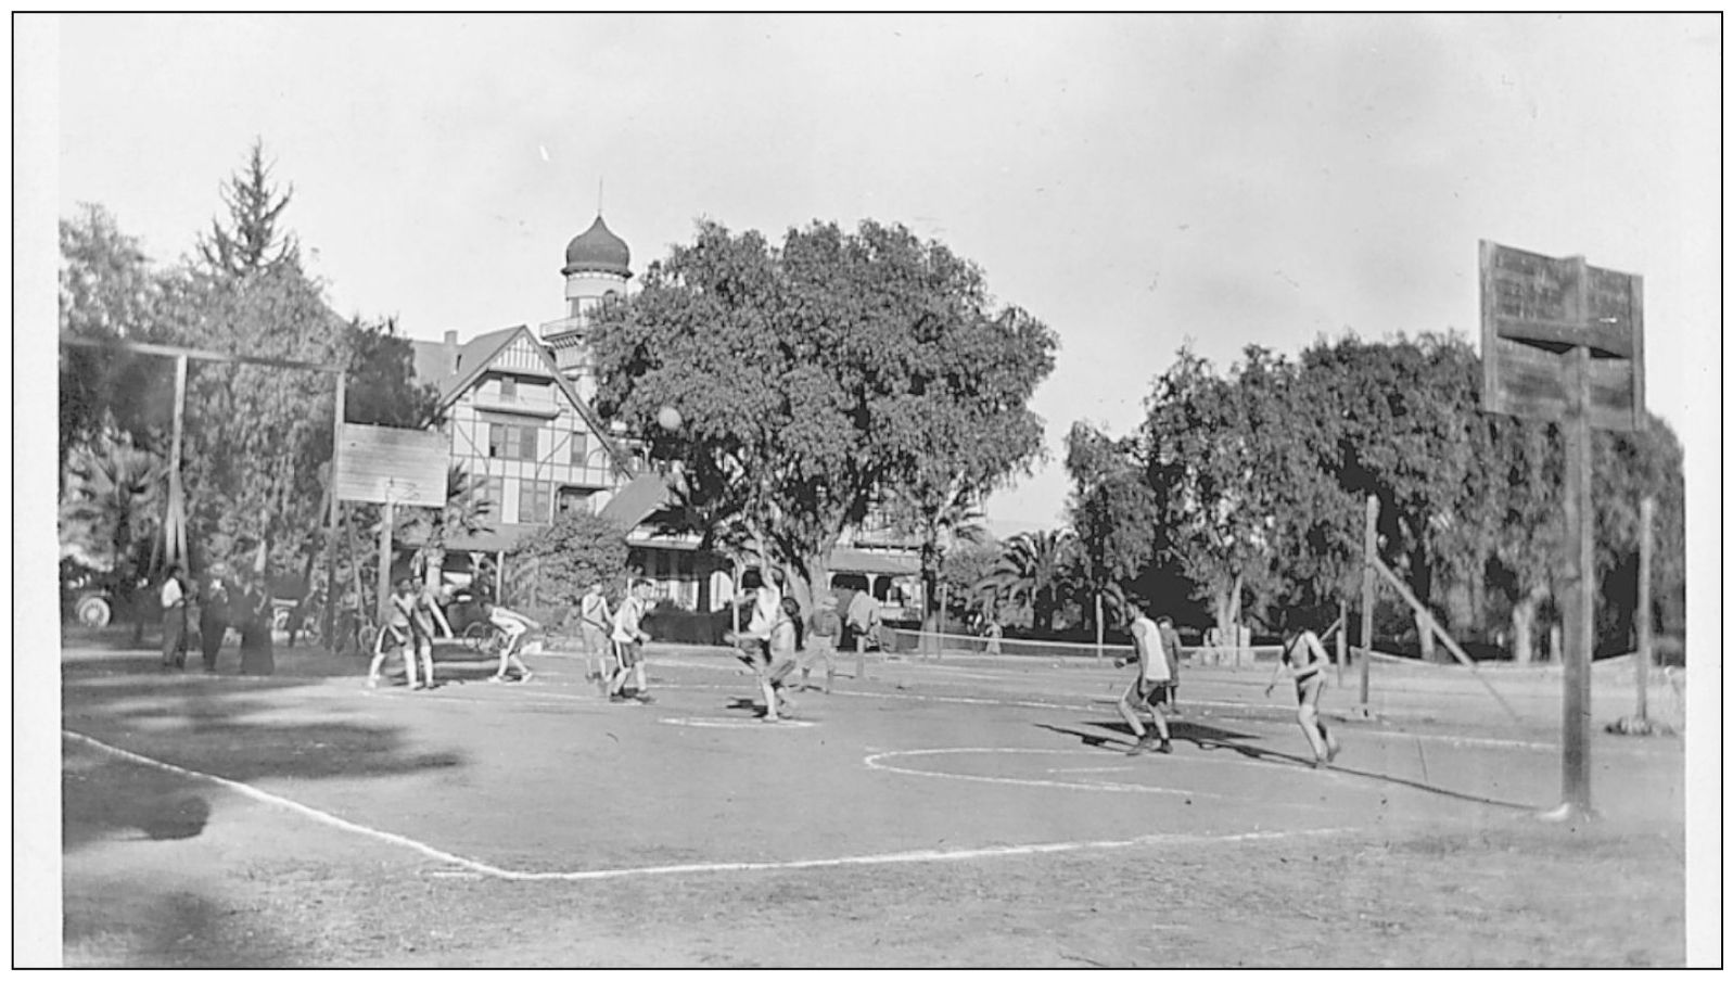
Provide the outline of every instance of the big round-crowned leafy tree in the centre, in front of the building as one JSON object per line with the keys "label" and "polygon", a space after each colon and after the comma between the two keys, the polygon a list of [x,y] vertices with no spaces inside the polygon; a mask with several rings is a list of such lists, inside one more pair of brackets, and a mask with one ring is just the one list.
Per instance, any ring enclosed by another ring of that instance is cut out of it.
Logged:
{"label": "big round-crowned leafy tree in the centre, in front of the building", "polygon": [[[780,246],[704,222],[591,331],[596,407],[678,463],[690,513],[742,529],[808,600],[875,504],[943,506],[955,480],[984,492],[1029,459],[1054,343],[995,310],[972,263],[877,222]],[[655,425],[662,407],[683,423]]]}

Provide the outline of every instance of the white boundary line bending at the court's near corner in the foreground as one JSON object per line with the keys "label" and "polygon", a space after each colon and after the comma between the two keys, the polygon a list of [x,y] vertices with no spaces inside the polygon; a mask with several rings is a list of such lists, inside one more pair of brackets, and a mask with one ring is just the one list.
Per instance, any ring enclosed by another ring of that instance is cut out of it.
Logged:
{"label": "white boundary line bending at the court's near corner in the foreground", "polygon": [[440,851],[433,846],[423,844],[412,837],[400,834],[383,832],[378,828],[369,828],[366,825],[357,825],[355,822],[347,822],[336,815],[329,815],[317,808],[308,808],[307,804],[291,801],[288,797],[279,797],[269,794],[256,787],[239,783],[236,780],[225,780],[211,773],[201,773],[198,770],[187,770],[184,766],[175,766],[173,763],[163,763],[161,759],[153,759],[149,756],[140,756],[120,747],[107,745],[106,742],[90,738],[83,733],[75,733],[71,730],[61,730],[62,738],[80,742],[92,749],[139,763],[144,766],[153,766],[156,770],[165,770],[168,773],[177,773],[182,776],[191,776],[194,780],[206,780],[222,787],[227,787],[237,794],[251,797],[255,801],[263,801],[267,804],[276,804],[279,808],[288,808],[302,816],[312,818],[314,822],[331,825],[352,834],[383,841],[386,844],[395,844],[399,848],[407,848],[418,854],[466,868],[480,875],[490,875],[494,879],[508,879],[513,882],[584,882],[596,879],[626,879],[634,875],[679,875],[679,874],[698,874],[698,872],[785,872],[795,868],[837,868],[847,865],[899,865],[899,863],[917,863],[917,861],[967,861],[972,858],[1007,858],[1022,854],[1055,854],[1066,851],[1097,851],[1113,848],[1139,848],[1151,844],[1208,844],[1208,842],[1239,842],[1239,841],[1275,841],[1288,837],[1312,837],[1312,835],[1329,835],[1345,834],[1355,828],[1310,828],[1310,830],[1249,830],[1239,834],[1225,835],[1208,835],[1208,834],[1152,834],[1139,835],[1123,841],[1059,841],[1059,842],[1036,842],[1036,844],[1005,844],[991,848],[960,848],[960,849],[917,849],[917,851],[891,851],[879,854],[849,854],[841,858],[802,858],[789,861],[702,861],[690,865],[646,865],[638,868],[591,868],[582,872],[520,872],[511,868],[499,868],[485,861],[477,861],[473,858],[463,858],[461,854],[452,854],[449,851]]}

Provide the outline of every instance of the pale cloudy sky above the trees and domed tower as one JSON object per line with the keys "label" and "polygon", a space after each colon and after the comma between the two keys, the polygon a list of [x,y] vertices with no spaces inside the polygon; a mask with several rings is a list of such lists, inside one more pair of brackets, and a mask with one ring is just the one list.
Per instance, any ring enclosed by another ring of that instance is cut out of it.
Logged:
{"label": "pale cloudy sky above the trees and domed tower", "polygon": [[1187,340],[1477,340],[1482,237],[1643,274],[1650,406],[1717,444],[1719,71],[1710,16],[85,16],[54,199],[172,262],[262,137],[338,310],[416,338],[561,315],[598,198],[639,272],[903,222],[1061,338],[1009,534]]}

